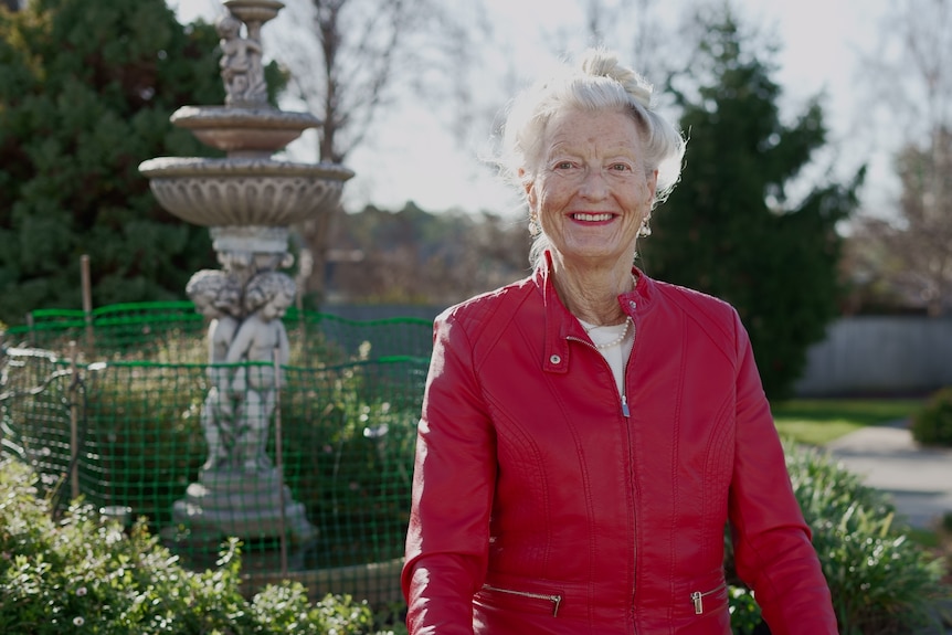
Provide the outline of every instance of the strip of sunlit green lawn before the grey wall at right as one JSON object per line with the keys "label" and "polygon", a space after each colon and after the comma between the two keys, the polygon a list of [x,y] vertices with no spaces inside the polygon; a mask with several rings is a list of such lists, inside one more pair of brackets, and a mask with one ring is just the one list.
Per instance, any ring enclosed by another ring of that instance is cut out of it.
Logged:
{"label": "strip of sunlit green lawn before the grey wall at right", "polygon": [[855,430],[908,419],[924,400],[794,399],[771,404],[781,437],[824,445]]}

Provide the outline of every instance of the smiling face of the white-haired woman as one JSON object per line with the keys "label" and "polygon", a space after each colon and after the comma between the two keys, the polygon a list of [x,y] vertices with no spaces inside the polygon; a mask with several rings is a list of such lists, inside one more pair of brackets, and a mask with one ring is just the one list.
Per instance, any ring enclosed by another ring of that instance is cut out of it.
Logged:
{"label": "smiling face of the white-haired woman", "polygon": [[624,113],[567,110],[552,117],[527,186],[557,257],[582,266],[631,266],[650,212],[657,171],[643,160],[641,134]]}

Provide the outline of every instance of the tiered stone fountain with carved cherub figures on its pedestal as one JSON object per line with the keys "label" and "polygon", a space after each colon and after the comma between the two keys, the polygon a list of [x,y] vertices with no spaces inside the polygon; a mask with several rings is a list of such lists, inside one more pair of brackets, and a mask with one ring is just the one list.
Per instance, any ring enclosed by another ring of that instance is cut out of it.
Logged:
{"label": "tiered stone fountain with carved cherub figures on its pedestal", "polygon": [[[139,166],[159,203],[208,226],[222,268],[197,272],[187,293],[210,318],[209,391],[202,428],[209,456],[199,479],[173,505],[193,537],[283,537],[306,541],[314,528],[279,465],[266,456],[288,361],[282,324],[296,294],[282,272],[293,264],[289,227],[338,204],[353,172],[334,163],[297,163],[273,155],[320,121],[267,103],[261,29],[284,7],[276,0],[223,0],[223,106],[184,106],[171,117],[224,158],[160,157]],[[261,362],[242,366],[240,362]],[[235,364],[235,366],[230,366]]]}

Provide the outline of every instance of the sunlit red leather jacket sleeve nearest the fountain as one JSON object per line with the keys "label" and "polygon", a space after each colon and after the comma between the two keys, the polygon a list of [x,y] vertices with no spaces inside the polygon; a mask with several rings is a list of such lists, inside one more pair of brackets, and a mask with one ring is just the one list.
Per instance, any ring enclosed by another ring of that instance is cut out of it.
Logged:
{"label": "sunlit red leather jacket sleeve nearest the fountain", "polygon": [[495,448],[470,343],[452,317],[437,318],[402,576],[411,635],[473,633],[473,595],[488,558]]}

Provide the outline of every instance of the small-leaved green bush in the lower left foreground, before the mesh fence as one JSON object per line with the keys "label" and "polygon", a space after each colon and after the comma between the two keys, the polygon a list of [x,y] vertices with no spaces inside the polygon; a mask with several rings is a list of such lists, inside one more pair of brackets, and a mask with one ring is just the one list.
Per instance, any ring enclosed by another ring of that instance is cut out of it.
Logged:
{"label": "small-leaved green bush in the lower left foreground, before the mesh fence", "polygon": [[38,499],[36,478],[15,461],[0,463],[0,624],[6,633],[63,635],[277,635],[373,633],[363,602],[326,596],[310,604],[304,586],[241,593],[239,542],[219,567],[179,565],[144,523],[129,535],[74,502],[62,519]]}

